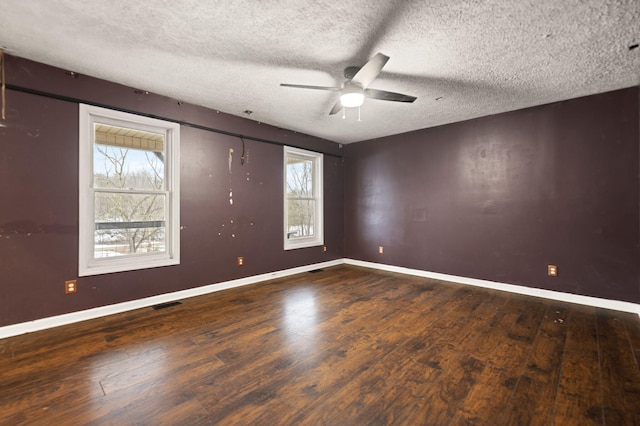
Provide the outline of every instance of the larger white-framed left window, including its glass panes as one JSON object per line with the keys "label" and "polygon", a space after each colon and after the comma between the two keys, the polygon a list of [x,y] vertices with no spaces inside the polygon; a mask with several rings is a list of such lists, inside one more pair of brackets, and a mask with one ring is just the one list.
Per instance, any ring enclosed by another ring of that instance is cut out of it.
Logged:
{"label": "larger white-framed left window, including its glass panes", "polygon": [[180,126],[80,105],[79,275],[180,263]]}

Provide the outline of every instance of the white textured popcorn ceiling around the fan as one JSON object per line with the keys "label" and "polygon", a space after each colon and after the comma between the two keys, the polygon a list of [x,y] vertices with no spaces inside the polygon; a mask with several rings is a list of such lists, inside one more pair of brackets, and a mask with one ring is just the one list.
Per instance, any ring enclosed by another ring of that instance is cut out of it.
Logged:
{"label": "white textured popcorn ceiling around the fan", "polygon": [[[7,53],[340,143],[640,84],[639,0],[3,0]],[[391,59],[329,116],[346,66]],[[9,81],[10,83],[10,81]]]}

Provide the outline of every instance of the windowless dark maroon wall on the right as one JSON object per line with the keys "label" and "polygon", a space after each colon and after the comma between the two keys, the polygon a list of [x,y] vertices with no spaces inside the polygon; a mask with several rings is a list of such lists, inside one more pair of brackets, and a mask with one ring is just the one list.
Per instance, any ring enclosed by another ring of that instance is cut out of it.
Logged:
{"label": "windowless dark maroon wall on the right", "polygon": [[346,257],[638,303],[639,117],[633,87],[348,145]]}

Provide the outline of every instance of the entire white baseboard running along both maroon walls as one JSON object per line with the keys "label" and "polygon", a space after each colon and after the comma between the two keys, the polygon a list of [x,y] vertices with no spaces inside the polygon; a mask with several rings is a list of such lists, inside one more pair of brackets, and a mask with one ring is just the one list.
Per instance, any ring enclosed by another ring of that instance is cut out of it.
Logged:
{"label": "entire white baseboard running along both maroon walls", "polygon": [[173,302],[176,300],[187,299],[189,297],[201,296],[204,294],[214,293],[216,291],[226,290],[229,288],[240,287],[243,285],[255,284],[274,278],[286,277],[302,272],[312,271],[314,269],[328,268],[342,264],[363,266],[371,269],[380,269],[389,272],[398,272],[401,274],[414,275],[424,278],[432,278],[441,281],[449,281],[458,284],[467,284],[476,287],[490,288],[494,290],[508,291],[511,293],[525,294],[527,296],[542,297],[545,299],[559,300],[562,302],[577,303],[580,305],[595,306],[598,308],[613,309],[622,312],[631,312],[640,316],[640,305],[631,302],[622,302],[619,300],[600,299],[597,297],[581,296],[571,293],[562,293],[559,291],[543,290],[533,287],[525,287],[514,284],[504,284],[488,280],[480,280],[476,278],[459,277],[456,275],[440,274],[437,272],[423,271],[420,269],[410,269],[401,266],[385,265],[382,263],[365,262],[355,259],[336,259],[329,262],[315,263],[313,265],[299,266],[296,268],[285,269],[282,271],[269,272],[261,275],[254,275],[237,280],[225,281],[217,284],[210,284],[203,287],[191,288],[188,290],[176,291],[173,293],[160,294],[158,296],[146,297],[144,299],[132,300],[129,302],[118,303],[115,305],[101,306],[98,308],[87,309],[84,311],[72,312],[69,314],[57,315],[48,318],[37,319],[20,324],[13,324],[0,327],[0,339],[6,337],[17,336],[20,334],[31,333],[33,331],[45,330],[48,328],[58,327],[61,325],[72,324],[75,322],[85,321],[94,318],[100,318],[107,315],[118,314],[121,312],[132,311],[134,309],[146,308],[161,303]]}

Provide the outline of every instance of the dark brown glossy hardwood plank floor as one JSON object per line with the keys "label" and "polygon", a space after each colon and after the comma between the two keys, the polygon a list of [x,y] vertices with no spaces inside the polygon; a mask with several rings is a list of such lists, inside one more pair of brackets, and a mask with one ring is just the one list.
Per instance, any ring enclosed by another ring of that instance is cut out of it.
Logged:
{"label": "dark brown glossy hardwood plank floor", "polygon": [[633,425],[639,358],[637,315],[339,266],[0,340],[0,424]]}

